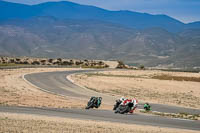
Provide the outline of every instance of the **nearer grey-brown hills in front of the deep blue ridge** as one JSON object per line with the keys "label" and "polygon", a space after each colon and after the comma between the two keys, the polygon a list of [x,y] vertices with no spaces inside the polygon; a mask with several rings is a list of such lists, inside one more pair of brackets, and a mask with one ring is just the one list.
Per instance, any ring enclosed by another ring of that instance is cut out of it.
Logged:
{"label": "nearer grey-brown hills in front of the deep blue ridge", "polygon": [[95,20],[33,17],[0,23],[3,55],[123,60],[128,64],[199,66],[200,30],[136,30]]}

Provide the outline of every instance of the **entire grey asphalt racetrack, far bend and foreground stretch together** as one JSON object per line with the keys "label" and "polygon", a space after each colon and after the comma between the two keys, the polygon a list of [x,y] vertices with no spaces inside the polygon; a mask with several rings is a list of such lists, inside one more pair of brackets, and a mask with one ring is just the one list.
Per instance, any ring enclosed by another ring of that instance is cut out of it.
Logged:
{"label": "entire grey asphalt racetrack, far bend and foreground stretch together", "polygon": [[[116,97],[100,94],[85,88],[81,88],[66,76],[80,72],[92,71],[63,71],[63,72],[45,72],[25,75],[24,78],[39,87],[43,91],[63,96],[72,96],[80,99],[89,99],[91,96],[102,96],[103,102],[113,105]],[[200,110],[180,108],[175,106],[166,106],[152,104],[154,111],[170,113],[190,113],[200,114]],[[81,109],[52,109],[52,108],[32,108],[32,107],[7,107],[0,106],[0,112],[36,114],[46,116],[57,116],[66,118],[75,118],[83,120],[110,121],[129,124],[152,125],[159,127],[171,127],[180,129],[190,129],[200,131],[200,121],[164,118],[159,116],[146,116],[141,114],[121,115],[108,110],[81,110]]]}

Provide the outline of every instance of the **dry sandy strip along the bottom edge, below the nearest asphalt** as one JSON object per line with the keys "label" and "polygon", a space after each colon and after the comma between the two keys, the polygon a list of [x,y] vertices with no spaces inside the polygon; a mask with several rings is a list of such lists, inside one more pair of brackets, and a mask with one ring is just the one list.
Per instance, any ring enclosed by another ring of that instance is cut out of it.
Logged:
{"label": "dry sandy strip along the bottom edge, below the nearest asphalt", "polygon": [[0,113],[0,133],[197,133],[197,131],[37,115]]}

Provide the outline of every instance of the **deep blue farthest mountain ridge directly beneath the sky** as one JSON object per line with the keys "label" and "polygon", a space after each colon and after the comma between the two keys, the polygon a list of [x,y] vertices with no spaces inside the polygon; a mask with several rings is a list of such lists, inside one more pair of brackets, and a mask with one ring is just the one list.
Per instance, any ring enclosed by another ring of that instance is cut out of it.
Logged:
{"label": "deep blue farthest mountain ridge directly beneath the sky", "polygon": [[[68,1],[46,2],[32,6],[0,1],[0,20],[30,18],[34,16],[101,20],[136,29],[160,27],[171,32],[179,32],[188,26],[167,15],[151,15],[132,11],[109,11],[95,6],[80,5]],[[191,24],[189,27],[191,27]],[[196,25],[193,24],[192,27],[196,28]]]}

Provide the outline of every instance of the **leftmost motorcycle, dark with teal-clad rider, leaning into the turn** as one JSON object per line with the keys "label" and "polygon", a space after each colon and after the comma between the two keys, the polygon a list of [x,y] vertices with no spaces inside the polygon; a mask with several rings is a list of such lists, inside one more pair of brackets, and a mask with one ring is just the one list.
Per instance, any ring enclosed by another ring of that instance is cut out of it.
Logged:
{"label": "leftmost motorcycle, dark with teal-clad rider, leaning into the turn", "polygon": [[101,105],[102,97],[91,97],[85,109],[99,108]]}

